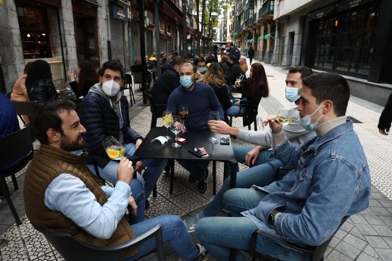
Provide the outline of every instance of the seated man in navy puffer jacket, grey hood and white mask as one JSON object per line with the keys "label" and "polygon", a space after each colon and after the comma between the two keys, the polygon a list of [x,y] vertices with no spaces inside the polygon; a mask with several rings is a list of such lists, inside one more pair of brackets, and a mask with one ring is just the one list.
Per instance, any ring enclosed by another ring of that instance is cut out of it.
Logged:
{"label": "seated man in navy puffer jacket, grey hood and white mask", "polygon": [[[90,88],[83,98],[78,111],[80,123],[87,132],[83,136],[86,142],[84,151],[88,151],[88,159],[98,165],[99,175],[115,184],[117,182],[117,161],[107,156],[102,141],[113,136],[125,148],[124,156],[130,159],[143,142],[143,137],[130,127],[128,101],[121,95],[120,88],[124,83],[123,66],[118,62],[106,62],[102,66],[99,83]],[[147,166],[143,177],[146,199],[161,175],[167,160],[142,160],[137,163],[138,170]],[[87,165],[96,174],[93,165]],[[147,202],[146,202],[147,203]],[[147,203],[148,204],[148,203]],[[146,206],[148,207],[148,206]]]}

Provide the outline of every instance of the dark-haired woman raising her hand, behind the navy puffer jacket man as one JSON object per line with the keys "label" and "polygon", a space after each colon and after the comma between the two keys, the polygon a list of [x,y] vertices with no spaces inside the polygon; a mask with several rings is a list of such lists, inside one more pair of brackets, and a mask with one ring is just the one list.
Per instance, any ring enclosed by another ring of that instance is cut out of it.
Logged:
{"label": "dark-haired woman raising her hand, behind the navy puffer jacket man", "polygon": [[71,80],[70,86],[73,90],[73,93],[77,97],[87,95],[90,88],[99,82],[99,76],[89,61],[80,61],[77,63],[77,74],[79,74],[79,82],[75,80],[76,75],[73,73],[73,70],[68,70],[67,74]]}

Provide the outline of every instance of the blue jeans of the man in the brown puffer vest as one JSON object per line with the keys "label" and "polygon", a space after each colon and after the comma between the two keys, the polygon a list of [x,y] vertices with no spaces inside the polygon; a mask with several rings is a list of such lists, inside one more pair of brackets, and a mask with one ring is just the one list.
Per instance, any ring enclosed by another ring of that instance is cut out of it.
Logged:
{"label": "blue jeans of the man in the brown puffer vest", "polygon": [[[138,236],[155,227],[157,224],[161,224],[162,226],[163,241],[169,242],[171,248],[176,253],[180,254],[184,260],[196,259],[198,255],[198,249],[192,242],[192,239],[185,229],[181,218],[176,215],[161,215],[153,217],[138,224],[134,224],[131,227]],[[126,261],[138,259],[151,252],[155,248],[155,237],[151,237],[139,245],[139,252],[135,256],[126,259]]]}

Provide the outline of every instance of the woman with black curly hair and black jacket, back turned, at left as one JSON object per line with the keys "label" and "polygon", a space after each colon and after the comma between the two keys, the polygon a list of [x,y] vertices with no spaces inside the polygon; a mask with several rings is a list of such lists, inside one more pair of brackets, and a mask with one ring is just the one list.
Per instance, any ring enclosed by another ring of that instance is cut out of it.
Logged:
{"label": "woman with black curly hair and black jacket, back turned, at left", "polygon": [[29,101],[46,102],[57,97],[50,66],[44,60],[35,60],[30,65],[25,84]]}

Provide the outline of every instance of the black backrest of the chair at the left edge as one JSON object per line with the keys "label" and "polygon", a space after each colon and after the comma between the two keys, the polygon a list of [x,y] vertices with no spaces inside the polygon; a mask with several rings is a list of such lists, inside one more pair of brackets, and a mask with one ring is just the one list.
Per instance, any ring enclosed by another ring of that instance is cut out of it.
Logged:
{"label": "black backrest of the chair at the left edge", "polygon": [[[0,139],[0,148],[7,148],[7,153],[2,153],[0,166],[15,162],[33,151],[30,125]],[[32,153],[31,153],[32,154]]]}

